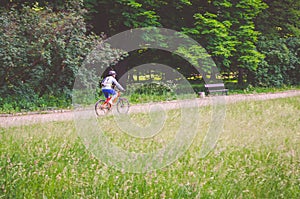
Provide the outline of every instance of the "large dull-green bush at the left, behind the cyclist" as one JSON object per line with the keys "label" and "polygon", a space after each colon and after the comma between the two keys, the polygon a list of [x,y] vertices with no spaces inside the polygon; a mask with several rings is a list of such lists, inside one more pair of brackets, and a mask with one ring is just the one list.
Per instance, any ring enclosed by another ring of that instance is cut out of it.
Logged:
{"label": "large dull-green bush at the left, behind the cyclist", "polygon": [[[18,9],[1,10],[0,96],[5,103],[0,103],[0,107],[13,104],[15,111],[40,106],[69,107],[78,72],[80,77],[90,73],[97,76],[96,71],[86,74],[79,68],[102,39],[87,33],[81,1],[68,2],[62,9],[55,12],[50,6],[21,4]],[[93,67],[91,63],[95,63],[103,68],[120,59],[120,52],[109,46],[104,46],[101,54],[97,52],[85,64]],[[95,82],[82,83],[88,87]],[[49,101],[41,104],[40,99]],[[61,99],[64,102],[57,102]]]}

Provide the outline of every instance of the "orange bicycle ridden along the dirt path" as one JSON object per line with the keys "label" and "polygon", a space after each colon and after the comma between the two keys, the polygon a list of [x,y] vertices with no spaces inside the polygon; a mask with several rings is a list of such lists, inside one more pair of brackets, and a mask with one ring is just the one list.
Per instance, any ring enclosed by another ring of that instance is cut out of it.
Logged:
{"label": "orange bicycle ridden along the dirt path", "polygon": [[[129,111],[129,101],[124,98],[124,97],[120,97],[121,93],[120,91],[118,91],[118,97],[115,99],[115,102],[114,104],[116,104],[117,106],[117,111],[118,113],[128,113]],[[112,96],[110,96],[109,98],[107,98],[106,100],[104,99],[100,99],[96,102],[95,104],[95,112],[98,116],[101,116],[101,115],[105,115],[106,113],[108,113],[112,107],[110,107],[109,105],[109,100],[111,99]]]}

